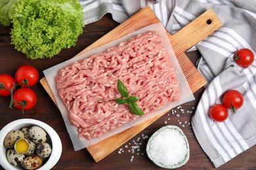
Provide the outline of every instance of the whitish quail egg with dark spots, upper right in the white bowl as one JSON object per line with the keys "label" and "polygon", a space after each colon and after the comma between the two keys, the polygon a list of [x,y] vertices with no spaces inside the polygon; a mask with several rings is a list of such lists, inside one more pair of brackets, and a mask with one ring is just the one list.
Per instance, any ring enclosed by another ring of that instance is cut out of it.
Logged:
{"label": "whitish quail egg with dark spots, upper right in the white bowl", "polygon": [[33,143],[44,143],[47,140],[47,133],[42,127],[32,126],[30,127],[30,139]]}

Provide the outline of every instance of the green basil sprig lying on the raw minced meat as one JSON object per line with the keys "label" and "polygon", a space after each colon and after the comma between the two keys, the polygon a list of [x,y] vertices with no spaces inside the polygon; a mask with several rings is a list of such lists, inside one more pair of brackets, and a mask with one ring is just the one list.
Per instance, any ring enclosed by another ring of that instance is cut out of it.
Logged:
{"label": "green basil sprig lying on the raw minced meat", "polygon": [[121,80],[117,79],[117,90],[121,94],[122,97],[124,98],[117,98],[116,103],[119,105],[127,104],[129,107],[129,110],[136,115],[144,115],[144,112],[142,109],[139,108],[137,105],[137,101],[139,100],[140,97],[129,95],[129,92],[123,82]]}

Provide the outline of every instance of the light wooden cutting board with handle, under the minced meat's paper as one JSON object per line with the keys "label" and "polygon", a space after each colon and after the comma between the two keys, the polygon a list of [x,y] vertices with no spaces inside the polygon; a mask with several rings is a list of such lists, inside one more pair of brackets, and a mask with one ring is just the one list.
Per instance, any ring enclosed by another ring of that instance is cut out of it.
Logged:
{"label": "light wooden cutting board with handle, under the minced meat's paper", "polygon": [[[135,15],[131,16],[131,18],[118,25],[115,29],[104,35],[102,38],[98,39],[98,41],[85,48],[85,50],[81,51],[76,56],[79,56],[80,54],[83,54],[95,47],[106,44],[107,42],[119,39],[120,37],[123,37],[124,35],[127,35],[133,31],[137,31],[142,27],[156,24],[158,22],[160,22],[160,20],[158,20],[153,10],[150,9],[150,7],[145,7]],[[206,80],[198,72],[196,67],[194,67],[184,52],[213,33],[216,29],[221,27],[221,25],[221,20],[219,20],[212,9],[209,9],[174,35],[167,33],[171,42],[171,46],[173,47],[176,57],[181,65],[182,71],[184,72],[184,75],[186,76],[188,84],[190,85],[193,93],[201,88],[204,84],[206,84]],[[53,99],[54,103],[57,105],[56,99],[54,98],[53,92],[46,78],[42,78],[40,82],[47,93],[49,93],[51,99]],[[87,150],[89,150],[95,161],[100,161],[108,156],[108,154],[119,148],[122,144],[127,142],[129,139],[140,133],[140,131],[158,120],[158,118],[163,116],[165,113],[166,112],[163,112],[162,114],[155,116],[154,118],[151,118],[142,124],[133,126],[125,131],[122,131],[121,133],[108,137],[99,143],[93,144],[87,147]]]}

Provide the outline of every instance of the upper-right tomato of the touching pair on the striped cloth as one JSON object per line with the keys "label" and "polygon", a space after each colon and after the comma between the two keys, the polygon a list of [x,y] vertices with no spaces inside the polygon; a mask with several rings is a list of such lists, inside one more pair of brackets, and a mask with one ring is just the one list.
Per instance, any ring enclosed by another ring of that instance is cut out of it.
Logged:
{"label": "upper-right tomato of the touching pair on the striped cloth", "polygon": [[244,104],[244,96],[237,90],[228,90],[223,95],[223,105],[236,112]]}

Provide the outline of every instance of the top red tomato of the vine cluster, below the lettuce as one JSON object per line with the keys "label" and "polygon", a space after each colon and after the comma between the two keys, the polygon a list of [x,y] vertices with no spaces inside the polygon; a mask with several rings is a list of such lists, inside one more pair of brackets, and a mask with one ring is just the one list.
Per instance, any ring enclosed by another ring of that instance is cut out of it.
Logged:
{"label": "top red tomato of the vine cluster, below the lettuce", "polygon": [[21,65],[15,73],[17,84],[23,87],[32,87],[39,80],[39,73],[32,65]]}

